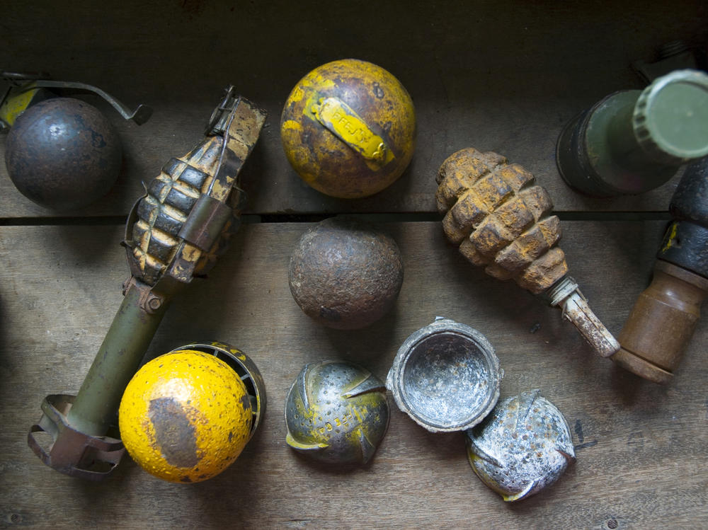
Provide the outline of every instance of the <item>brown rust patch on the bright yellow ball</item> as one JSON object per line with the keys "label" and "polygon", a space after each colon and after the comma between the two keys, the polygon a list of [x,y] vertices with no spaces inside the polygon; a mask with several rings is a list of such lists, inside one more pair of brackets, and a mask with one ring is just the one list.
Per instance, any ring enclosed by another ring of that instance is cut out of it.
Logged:
{"label": "brown rust patch on the bright yellow ball", "polygon": [[181,403],[173,398],[153,399],[148,416],[155,430],[155,442],[171,466],[193,468],[199,463],[194,425]]}

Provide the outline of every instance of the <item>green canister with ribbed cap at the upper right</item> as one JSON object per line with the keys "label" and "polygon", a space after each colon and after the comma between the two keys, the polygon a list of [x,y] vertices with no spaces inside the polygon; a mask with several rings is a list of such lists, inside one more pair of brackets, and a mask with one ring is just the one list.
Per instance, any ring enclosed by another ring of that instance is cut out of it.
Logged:
{"label": "green canister with ribbed cap at the upper right", "polygon": [[643,91],[619,91],[566,125],[556,147],[561,176],[596,197],[637,195],[679,166],[708,156],[708,75],[676,70]]}

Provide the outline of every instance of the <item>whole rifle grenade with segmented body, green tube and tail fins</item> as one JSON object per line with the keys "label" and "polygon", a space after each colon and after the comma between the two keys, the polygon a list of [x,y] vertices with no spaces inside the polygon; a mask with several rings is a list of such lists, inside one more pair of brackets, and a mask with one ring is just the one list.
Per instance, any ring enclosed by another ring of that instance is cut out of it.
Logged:
{"label": "whole rifle grenade with segmented body, green tube and tail fins", "polygon": [[[47,466],[101,480],[120,461],[125,449],[113,425],[122,393],[173,296],[214,265],[236,231],[245,200],[239,171],[264,122],[265,111],[229,87],[205,139],[166,163],[133,207],[123,243],[131,277],[120,309],[79,393],[47,396],[28,434]],[[41,432],[52,437],[48,447]]]}

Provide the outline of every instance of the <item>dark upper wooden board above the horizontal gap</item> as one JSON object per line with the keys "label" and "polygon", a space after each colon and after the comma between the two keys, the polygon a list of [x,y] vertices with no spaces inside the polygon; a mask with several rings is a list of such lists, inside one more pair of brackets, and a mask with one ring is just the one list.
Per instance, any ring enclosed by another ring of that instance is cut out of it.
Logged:
{"label": "dark upper wooden board above the horizontal gap", "polygon": [[[58,23],[57,21],[62,21]],[[666,211],[676,180],[639,197],[595,200],[569,190],[555,143],[573,115],[607,94],[640,88],[629,65],[665,42],[706,48],[702,0],[430,1],[359,4],[278,0],[12,2],[0,22],[0,67],[48,71],[100,86],[154,116],[137,127],[86,96],[125,148],[113,190],[66,216],[125,215],[172,156],[198,142],[225,86],[263,105],[268,122],[244,170],[249,212],[433,212],[435,173],[458,149],[498,151],[537,175],[559,211]],[[314,67],[355,57],[389,69],[416,105],[409,170],[361,200],[302,183],[280,146],[280,111]],[[4,142],[0,142],[0,157]],[[20,195],[0,164],[0,217],[51,217]]]}

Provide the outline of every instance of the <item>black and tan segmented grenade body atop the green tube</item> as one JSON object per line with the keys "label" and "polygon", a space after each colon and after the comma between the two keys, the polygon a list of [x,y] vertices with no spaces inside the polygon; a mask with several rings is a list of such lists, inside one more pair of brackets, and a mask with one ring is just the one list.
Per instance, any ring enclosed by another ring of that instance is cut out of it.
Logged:
{"label": "black and tan segmented grenade body atop the green tube", "polygon": [[[131,272],[149,285],[164,276],[189,282],[204,275],[239,226],[245,194],[236,178],[265,113],[233,91],[219,108],[207,137],[163,166],[128,219],[125,244]],[[226,142],[224,128],[229,132]]]}

